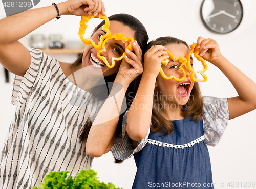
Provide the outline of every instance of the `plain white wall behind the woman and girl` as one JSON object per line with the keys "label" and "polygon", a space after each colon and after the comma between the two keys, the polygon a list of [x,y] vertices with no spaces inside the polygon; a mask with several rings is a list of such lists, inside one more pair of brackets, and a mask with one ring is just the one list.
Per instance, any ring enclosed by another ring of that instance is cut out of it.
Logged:
{"label": "plain white wall behind the woman and girl", "polygon": [[[55,3],[59,2],[59,0],[55,1]],[[155,2],[105,0],[104,4],[108,16],[115,13],[127,13],[141,20],[148,31],[150,40],[159,36],[174,36],[191,44],[196,42],[199,36],[216,39],[222,54],[256,82],[255,0],[241,0],[244,9],[242,23],[235,31],[224,35],[211,33],[204,27],[199,14],[202,0],[159,0]],[[52,1],[42,0],[36,7],[51,4]],[[4,16],[1,6],[0,4],[0,16]],[[45,35],[62,33],[65,40],[79,40],[77,34],[79,21],[79,17],[61,16],[60,20],[55,21],[54,19],[33,33],[44,33]],[[206,74],[208,81],[200,84],[203,95],[237,96],[237,92],[230,82],[220,70],[210,63],[208,63]],[[14,107],[9,103],[13,77],[11,76],[11,82],[6,84],[2,70],[0,70],[0,75],[0,122],[2,123],[0,147],[2,147]],[[251,95],[256,96],[256,94]],[[230,120],[220,143],[216,147],[209,147],[216,188],[223,188],[221,187],[223,185],[220,186],[220,183],[223,184],[223,182],[225,187],[228,187],[229,182],[238,182],[239,186],[236,188],[244,188],[246,182],[256,182],[255,117],[256,111],[254,110],[237,119]],[[93,169],[98,172],[101,181],[113,182],[124,189],[131,188],[136,173],[133,159],[116,165],[113,163],[110,153],[94,159]]]}

